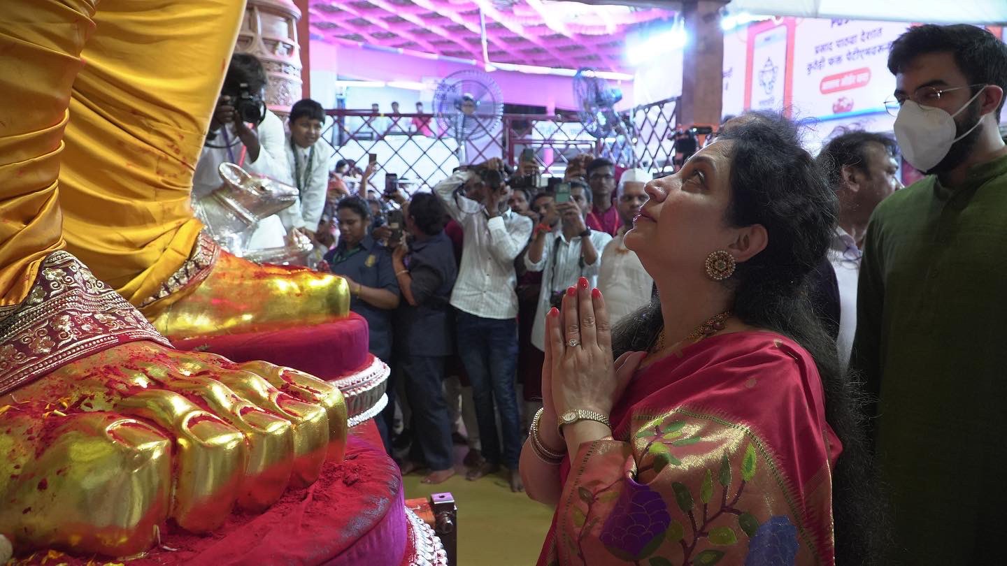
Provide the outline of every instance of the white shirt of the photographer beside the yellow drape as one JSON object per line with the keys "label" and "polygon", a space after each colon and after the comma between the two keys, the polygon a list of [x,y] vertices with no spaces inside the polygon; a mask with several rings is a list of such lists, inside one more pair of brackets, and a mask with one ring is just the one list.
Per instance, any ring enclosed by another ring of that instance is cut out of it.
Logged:
{"label": "white shirt of the photographer beside the yellow drape", "polygon": [[[234,126],[228,126],[218,131],[217,138],[208,142],[211,146],[203,146],[199,161],[195,165],[192,177],[192,199],[197,200],[217,190],[224,181],[217,169],[221,163],[238,163],[250,173],[266,175],[278,181],[290,184],[293,177],[287,164],[287,154],[283,146],[286,135],[283,132],[283,122],[270,110],[263,115],[262,124],[256,128],[259,136],[259,158],[251,161],[245,144],[235,134]],[[230,151],[229,151],[230,150]],[[243,159],[244,156],[244,159]],[[264,248],[282,248],[283,238],[287,235],[283,223],[278,216],[272,216],[259,222],[252,240],[250,250]]]}

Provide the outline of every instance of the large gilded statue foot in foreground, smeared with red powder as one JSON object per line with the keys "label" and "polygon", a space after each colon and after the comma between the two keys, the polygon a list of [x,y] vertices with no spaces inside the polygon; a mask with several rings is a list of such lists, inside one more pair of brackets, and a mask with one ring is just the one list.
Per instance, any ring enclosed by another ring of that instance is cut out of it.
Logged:
{"label": "large gilded statue foot in foreground, smeared with red powder", "polygon": [[175,350],[64,252],[0,315],[0,535],[18,553],[134,555],[168,519],[212,531],[345,449],[336,388]]}

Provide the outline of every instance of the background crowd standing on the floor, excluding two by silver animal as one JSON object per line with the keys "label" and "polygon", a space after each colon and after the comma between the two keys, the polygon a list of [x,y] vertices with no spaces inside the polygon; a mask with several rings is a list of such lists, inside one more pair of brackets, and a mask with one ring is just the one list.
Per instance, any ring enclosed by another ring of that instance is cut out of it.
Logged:
{"label": "background crowd standing on the floor, excluding two by silver animal", "polygon": [[[490,159],[460,167],[432,193],[390,192],[392,210],[359,195],[337,202],[339,239],[321,269],[346,279],[350,308],[369,321],[372,353],[393,367],[393,403],[379,422],[405,471],[428,468],[429,482],[450,477],[457,440],[469,445],[470,479],[502,466],[522,489],[521,444],[541,406],[545,313],[579,277],[595,281],[650,180],[628,170],[615,190],[610,161],[582,161],[554,189],[529,186],[522,170],[509,175]],[[592,204],[602,198],[606,210]],[[608,223],[611,233],[589,228],[608,210],[620,221]],[[401,233],[390,228],[400,223]],[[632,271],[623,265],[631,255],[611,256],[613,304],[632,312],[650,302],[652,281],[619,277]]]}

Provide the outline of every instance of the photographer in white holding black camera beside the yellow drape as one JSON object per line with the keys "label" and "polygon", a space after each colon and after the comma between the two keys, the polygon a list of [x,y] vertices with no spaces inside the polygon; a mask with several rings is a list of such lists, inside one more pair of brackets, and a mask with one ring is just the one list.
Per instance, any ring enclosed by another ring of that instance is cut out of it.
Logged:
{"label": "photographer in white holding black camera beside the yellow drape", "polygon": [[[218,167],[222,163],[235,163],[250,173],[293,184],[283,122],[263,100],[266,82],[266,72],[258,58],[248,53],[232,55],[195,166],[193,200],[221,186]],[[259,222],[249,249],[281,248],[286,236],[280,216],[269,217]]]}

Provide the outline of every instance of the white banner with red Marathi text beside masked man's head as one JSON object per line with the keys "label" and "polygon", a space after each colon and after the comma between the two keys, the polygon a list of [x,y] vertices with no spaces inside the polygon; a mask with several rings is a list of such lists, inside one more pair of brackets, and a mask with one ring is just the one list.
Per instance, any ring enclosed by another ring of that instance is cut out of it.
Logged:
{"label": "white banner with red Marathi text beside masked man's head", "polygon": [[[816,151],[847,129],[890,132],[894,118],[884,101],[895,78],[888,51],[912,25],[777,17],[727,31],[722,115],[785,110],[808,125],[807,142]],[[987,29],[1007,41],[1007,26]]]}

